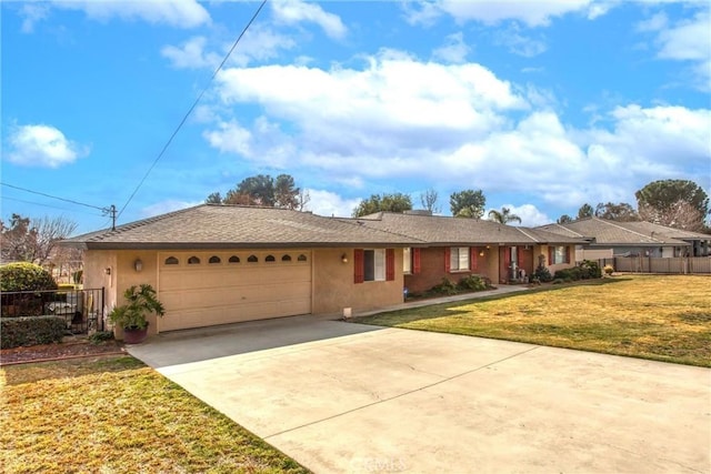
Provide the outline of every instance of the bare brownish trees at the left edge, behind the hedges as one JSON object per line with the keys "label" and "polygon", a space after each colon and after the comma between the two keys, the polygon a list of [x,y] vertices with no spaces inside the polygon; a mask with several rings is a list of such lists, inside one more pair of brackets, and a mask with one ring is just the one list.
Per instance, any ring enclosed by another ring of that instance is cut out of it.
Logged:
{"label": "bare brownish trees at the left edge, behind the hedges", "polygon": [[12,214],[9,226],[0,220],[0,249],[3,262],[46,264],[57,249],[57,242],[77,230],[77,223],[58,216],[31,220]]}

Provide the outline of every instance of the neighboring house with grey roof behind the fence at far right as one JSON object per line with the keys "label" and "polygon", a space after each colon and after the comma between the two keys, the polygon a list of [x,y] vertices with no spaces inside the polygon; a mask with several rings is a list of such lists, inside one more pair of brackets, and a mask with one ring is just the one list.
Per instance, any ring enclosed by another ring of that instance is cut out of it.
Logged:
{"label": "neighboring house with grey roof behind the fence at far right", "polygon": [[587,218],[567,224],[547,224],[539,230],[587,241],[575,260],[612,256],[707,256],[711,235],[665,228],[651,222],[618,222]]}

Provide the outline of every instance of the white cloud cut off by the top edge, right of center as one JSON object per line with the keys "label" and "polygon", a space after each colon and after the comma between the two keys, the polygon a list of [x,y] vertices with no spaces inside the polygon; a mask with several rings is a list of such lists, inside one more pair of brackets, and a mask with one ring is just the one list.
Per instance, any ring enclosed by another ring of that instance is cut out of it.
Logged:
{"label": "white cloud cut off by the top edge, right of center", "polygon": [[430,24],[438,14],[445,13],[459,23],[479,21],[498,24],[505,20],[514,20],[529,27],[545,27],[551,19],[572,12],[587,13],[588,18],[594,19],[608,11],[601,4],[593,4],[592,0],[439,0],[415,4],[418,7],[405,8],[408,21],[413,24]]}

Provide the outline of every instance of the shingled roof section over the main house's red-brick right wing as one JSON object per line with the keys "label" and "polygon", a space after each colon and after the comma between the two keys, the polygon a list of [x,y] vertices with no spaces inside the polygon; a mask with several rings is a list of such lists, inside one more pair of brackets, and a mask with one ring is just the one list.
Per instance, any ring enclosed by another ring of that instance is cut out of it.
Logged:
{"label": "shingled roof section over the main house's red-brick right wing", "polygon": [[371,229],[410,235],[438,245],[500,243],[505,245],[584,243],[577,236],[538,229],[517,228],[492,221],[441,215],[378,212],[356,220]]}

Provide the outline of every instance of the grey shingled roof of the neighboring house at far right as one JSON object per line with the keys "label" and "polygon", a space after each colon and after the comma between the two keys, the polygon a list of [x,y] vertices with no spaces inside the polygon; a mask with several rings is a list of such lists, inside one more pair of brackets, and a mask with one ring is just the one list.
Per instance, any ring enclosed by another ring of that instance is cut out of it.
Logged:
{"label": "grey shingled roof of the neighboring house at far right", "polygon": [[711,235],[680,229],[665,228],[651,222],[617,222],[600,218],[587,218],[565,224],[547,224],[539,230],[579,235],[591,245],[688,245],[684,240],[711,240]]}

